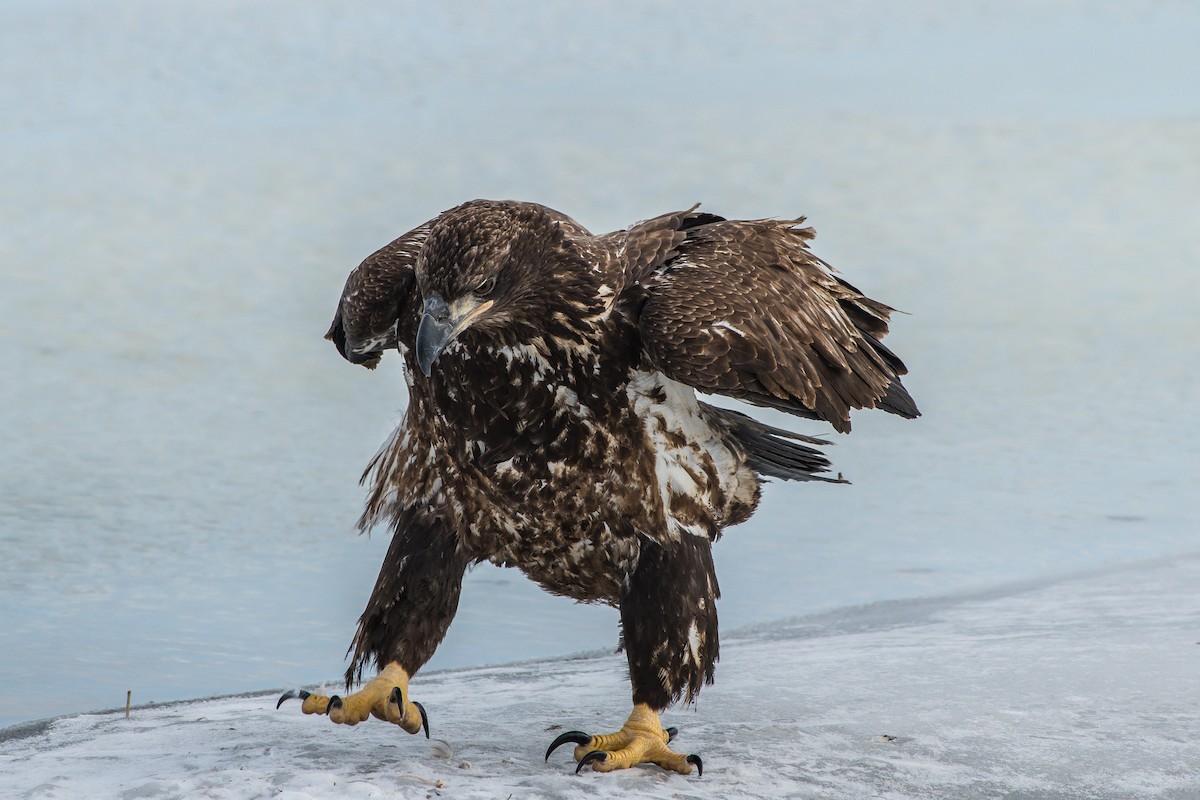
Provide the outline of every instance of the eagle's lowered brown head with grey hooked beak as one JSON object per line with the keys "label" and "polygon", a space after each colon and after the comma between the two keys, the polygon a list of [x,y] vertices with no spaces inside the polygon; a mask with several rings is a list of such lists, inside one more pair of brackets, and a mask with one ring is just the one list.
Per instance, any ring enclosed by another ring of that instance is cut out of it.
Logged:
{"label": "eagle's lowered brown head with grey hooked beak", "polygon": [[564,219],[514,200],[472,200],[438,217],[416,259],[424,306],[415,355],[426,377],[461,337],[514,345],[564,329],[582,333],[598,299]]}

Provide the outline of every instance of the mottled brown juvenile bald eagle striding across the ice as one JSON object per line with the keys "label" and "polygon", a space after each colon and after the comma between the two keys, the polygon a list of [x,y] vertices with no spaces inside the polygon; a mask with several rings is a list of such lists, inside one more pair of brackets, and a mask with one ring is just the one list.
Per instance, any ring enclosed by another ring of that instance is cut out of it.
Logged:
{"label": "mottled brown juvenile bald eagle striding across the ice", "polygon": [[690,702],[718,657],[712,546],[758,504],[763,476],[822,477],[818,439],[700,402],[725,395],[850,431],[850,411],[918,415],[880,339],[892,308],[808,247],[803,218],[690,209],[600,236],[533,203],[474,200],[367,257],[326,338],[373,368],[403,359],[403,421],[364,474],[359,525],[391,546],[359,621],[344,698],[289,692],[306,714],[374,715],[409,733],[409,678],[433,655],[463,572],[488,560],[620,610],[634,711],[572,730],[576,771],[652,762],[688,774],[659,712]]}

